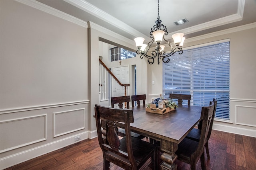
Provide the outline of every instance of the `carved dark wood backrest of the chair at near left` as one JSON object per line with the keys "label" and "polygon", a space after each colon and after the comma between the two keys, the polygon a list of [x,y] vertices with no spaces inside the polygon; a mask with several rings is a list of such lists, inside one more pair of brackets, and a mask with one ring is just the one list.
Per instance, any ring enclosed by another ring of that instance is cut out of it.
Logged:
{"label": "carved dark wood backrest of the chair at near left", "polygon": [[[117,165],[127,164],[127,162],[130,162],[132,167],[135,167],[136,161],[133,156],[130,131],[130,123],[134,122],[132,109],[117,109],[99,105],[95,105],[94,109],[98,141],[102,152],[112,157],[112,161]],[[121,143],[116,131],[116,121],[124,123],[127,152],[119,150]],[[106,129],[103,130],[102,127]]]}

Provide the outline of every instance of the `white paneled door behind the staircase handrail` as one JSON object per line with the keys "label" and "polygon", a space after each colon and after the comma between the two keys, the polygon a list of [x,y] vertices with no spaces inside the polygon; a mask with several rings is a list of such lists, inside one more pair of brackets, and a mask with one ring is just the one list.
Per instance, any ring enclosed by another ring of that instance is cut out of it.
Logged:
{"label": "white paneled door behind the staircase handrail", "polygon": [[[114,68],[114,75],[122,84],[129,84],[128,66]],[[114,86],[114,96],[124,96],[124,87]]]}

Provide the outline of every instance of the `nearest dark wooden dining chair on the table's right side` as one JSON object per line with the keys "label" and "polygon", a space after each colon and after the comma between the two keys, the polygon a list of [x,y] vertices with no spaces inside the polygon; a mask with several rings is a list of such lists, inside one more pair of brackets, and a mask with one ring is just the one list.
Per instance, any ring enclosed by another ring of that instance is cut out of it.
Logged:
{"label": "nearest dark wooden dining chair on the table's right side", "polygon": [[204,159],[204,147],[207,143],[207,134],[210,130],[210,124],[213,121],[214,103],[210,102],[210,106],[202,107],[202,129],[199,142],[184,138],[178,144],[178,150],[175,152],[178,160],[190,164],[191,170],[196,170],[198,160],[201,161],[202,170],[206,170]]}

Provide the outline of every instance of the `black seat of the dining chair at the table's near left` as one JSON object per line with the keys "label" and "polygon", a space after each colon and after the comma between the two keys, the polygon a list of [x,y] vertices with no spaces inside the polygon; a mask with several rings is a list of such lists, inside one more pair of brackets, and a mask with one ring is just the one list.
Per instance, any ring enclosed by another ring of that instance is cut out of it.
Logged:
{"label": "black seat of the dining chair at the table's near left", "polygon": [[[126,147],[126,137],[123,137],[121,140],[120,150],[127,152]],[[136,162],[141,162],[140,164],[144,164],[148,159],[148,155],[154,152],[154,148],[156,148],[156,144],[152,144],[146,141],[142,141],[136,137],[132,137],[132,151]]]}

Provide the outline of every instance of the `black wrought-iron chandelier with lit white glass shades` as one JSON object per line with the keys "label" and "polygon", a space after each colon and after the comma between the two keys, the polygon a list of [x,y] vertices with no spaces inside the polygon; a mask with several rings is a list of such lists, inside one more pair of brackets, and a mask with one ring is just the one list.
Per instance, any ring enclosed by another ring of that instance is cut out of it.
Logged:
{"label": "black wrought-iron chandelier with lit white glass shades", "polygon": [[[140,55],[141,59],[143,59],[143,57],[146,57],[148,59],[149,64],[153,64],[154,59],[156,57],[158,59],[158,64],[160,63],[161,58],[164,63],[168,63],[170,61],[168,57],[170,57],[176,52],[179,52],[179,54],[183,53],[182,45],[185,40],[185,37],[183,37],[184,33],[175,33],[174,35],[172,35],[172,39],[174,40],[174,44],[176,45],[176,47],[174,48],[170,44],[170,41],[167,41],[164,38],[164,35],[168,35],[168,32],[166,30],[166,26],[164,26],[161,22],[162,21],[160,20],[160,16],[159,16],[159,0],[158,0],[158,17],[156,20],[156,25],[154,25],[151,28],[151,32],[150,32],[150,38],[152,38],[152,40],[148,44],[143,44],[145,40],[144,38],[137,37],[134,39],[136,46],[138,47],[138,50],[136,51],[136,53]],[[170,53],[166,53],[164,51],[165,46],[160,45],[163,39],[164,39],[163,42],[167,43],[167,45],[171,47]],[[153,51],[150,51],[150,48],[154,43],[154,41],[156,42],[156,47]]]}

